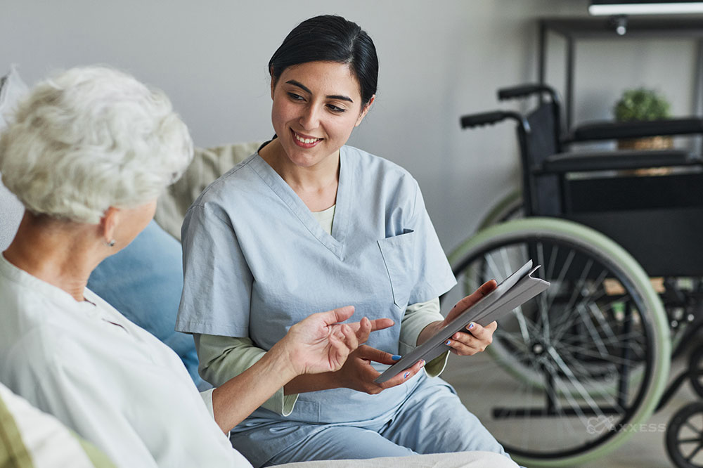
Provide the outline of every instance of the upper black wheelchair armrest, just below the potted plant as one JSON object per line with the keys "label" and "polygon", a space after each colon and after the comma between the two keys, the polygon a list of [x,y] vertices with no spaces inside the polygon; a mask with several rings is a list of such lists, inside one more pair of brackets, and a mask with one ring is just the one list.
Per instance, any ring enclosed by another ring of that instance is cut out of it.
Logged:
{"label": "upper black wheelchair armrest, just below the potted plant", "polygon": [[703,119],[688,117],[645,122],[594,122],[573,129],[565,143],[690,134],[703,134]]}

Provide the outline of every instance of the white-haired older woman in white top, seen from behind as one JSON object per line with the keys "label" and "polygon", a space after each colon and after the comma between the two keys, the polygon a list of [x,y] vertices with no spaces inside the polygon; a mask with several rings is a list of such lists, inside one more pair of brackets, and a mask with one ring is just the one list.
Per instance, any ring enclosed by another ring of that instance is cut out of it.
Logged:
{"label": "white-haired older woman in white top, seen from behind", "polygon": [[0,381],[120,467],[250,467],[224,433],[295,375],[339,369],[357,339],[390,324],[338,324],[352,307],[316,313],[257,368],[198,394],[176,353],[86,288],[192,155],[168,98],[105,67],[41,82],[0,134],[3,182],[26,209],[0,255]]}

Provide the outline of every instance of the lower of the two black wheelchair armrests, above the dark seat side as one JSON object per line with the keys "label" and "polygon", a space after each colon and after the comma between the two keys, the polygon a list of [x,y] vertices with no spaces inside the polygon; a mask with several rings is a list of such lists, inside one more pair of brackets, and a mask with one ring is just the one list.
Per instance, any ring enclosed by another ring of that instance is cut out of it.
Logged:
{"label": "lower of the two black wheelchair armrests, above the dark seat side", "polygon": [[695,165],[703,167],[703,161],[685,150],[565,152],[547,157],[535,171],[537,174],[563,174]]}

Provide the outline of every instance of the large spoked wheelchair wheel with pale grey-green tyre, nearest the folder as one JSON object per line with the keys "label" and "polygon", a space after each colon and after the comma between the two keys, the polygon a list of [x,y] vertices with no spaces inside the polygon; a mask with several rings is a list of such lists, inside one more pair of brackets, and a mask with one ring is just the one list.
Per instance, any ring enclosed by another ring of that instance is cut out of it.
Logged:
{"label": "large spoked wheelchair wheel with pale grey-green tyre, nearest the folder", "polygon": [[471,291],[528,259],[551,282],[500,320],[491,353],[452,360],[445,374],[515,460],[586,462],[650,417],[669,374],[669,330],[624,249],[576,223],[529,218],[482,230],[461,258],[455,273]]}

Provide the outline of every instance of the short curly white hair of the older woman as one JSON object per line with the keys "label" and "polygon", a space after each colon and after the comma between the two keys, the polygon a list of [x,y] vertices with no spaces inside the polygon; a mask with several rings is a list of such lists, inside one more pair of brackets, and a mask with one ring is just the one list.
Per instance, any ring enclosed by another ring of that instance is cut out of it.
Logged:
{"label": "short curly white hair of the older woman", "polygon": [[5,186],[30,212],[79,223],[155,200],[192,157],[167,96],[103,66],[34,86],[0,135]]}

